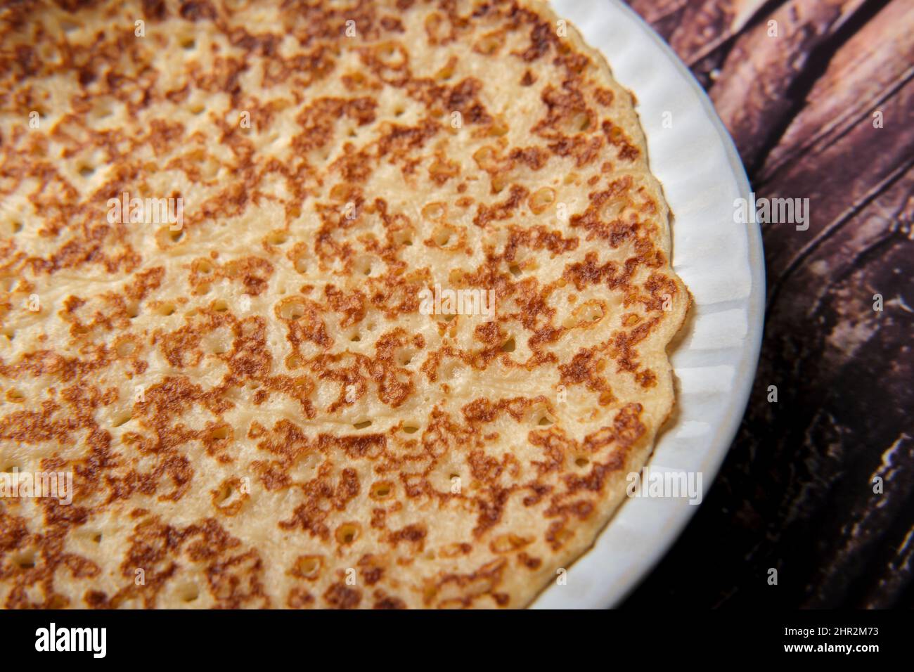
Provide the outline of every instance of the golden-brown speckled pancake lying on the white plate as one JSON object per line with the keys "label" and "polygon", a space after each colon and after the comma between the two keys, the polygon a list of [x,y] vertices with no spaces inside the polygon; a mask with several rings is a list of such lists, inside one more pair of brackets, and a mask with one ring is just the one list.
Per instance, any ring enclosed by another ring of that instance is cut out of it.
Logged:
{"label": "golden-brown speckled pancake lying on the white plate", "polygon": [[565,581],[673,408],[690,303],[632,95],[574,27],[26,0],[0,45],[0,485],[72,482],[0,498],[0,603]]}

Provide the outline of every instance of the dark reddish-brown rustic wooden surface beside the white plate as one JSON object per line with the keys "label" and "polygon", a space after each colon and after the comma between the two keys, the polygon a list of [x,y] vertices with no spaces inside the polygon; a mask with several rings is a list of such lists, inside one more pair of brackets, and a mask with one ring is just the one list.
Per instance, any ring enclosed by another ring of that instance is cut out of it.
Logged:
{"label": "dark reddish-brown rustic wooden surface beside the white plate", "polygon": [[705,503],[624,606],[910,608],[914,0],[629,4],[706,88],[757,196],[808,197],[811,219],[762,227],[749,409]]}

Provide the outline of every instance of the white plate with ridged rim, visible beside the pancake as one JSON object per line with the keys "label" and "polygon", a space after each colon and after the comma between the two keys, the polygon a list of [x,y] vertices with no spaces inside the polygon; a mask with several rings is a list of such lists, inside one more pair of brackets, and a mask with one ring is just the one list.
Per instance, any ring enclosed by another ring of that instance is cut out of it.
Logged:
{"label": "white plate with ridged rim, visible beside the pancake", "polygon": [[[757,225],[733,220],[734,200],[749,198],[749,181],[705,92],[631,8],[618,0],[551,5],[600,49],[616,80],[635,94],[651,170],[674,213],[673,267],[695,304],[673,354],[678,412],[648,466],[701,473],[707,495],[739,428],[759,359],[761,235]],[[567,582],[547,588],[533,607],[620,603],[696,509],[685,498],[627,499],[593,548],[568,569]]]}

